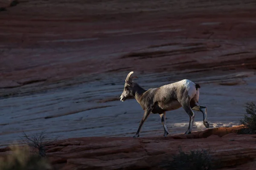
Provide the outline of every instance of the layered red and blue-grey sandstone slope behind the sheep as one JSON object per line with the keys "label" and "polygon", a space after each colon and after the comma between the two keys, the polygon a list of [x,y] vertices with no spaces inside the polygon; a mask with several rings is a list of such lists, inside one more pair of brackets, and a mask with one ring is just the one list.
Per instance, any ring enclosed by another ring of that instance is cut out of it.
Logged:
{"label": "layered red and blue-grey sandstone slope behind the sheep", "polygon": [[[6,6],[6,3],[1,3]],[[0,146],[48,138],[133,136],[143,110],[119,101],[130,71],[144,88],[200,83],[210,127],[239,124],[255,101],[256,3],[20,0],[0,12]],[[193,130],[204,130],[195,113]],[[189,116],[167,113],[170,133]],[[151,115],[141,136],[162,136]]]}

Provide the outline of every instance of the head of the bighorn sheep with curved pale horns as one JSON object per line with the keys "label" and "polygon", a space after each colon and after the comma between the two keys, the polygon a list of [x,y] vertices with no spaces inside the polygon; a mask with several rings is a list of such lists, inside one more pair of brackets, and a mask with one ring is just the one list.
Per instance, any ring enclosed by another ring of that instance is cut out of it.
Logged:
{"label": "head of the bighorn sheep with curved pale horns", "polygon": [[131,77],[131,74],[133,74],[134,72],[131,71],[126,79],[125,79],[125,87],[124,87],[124,91],[122,92],[121,96],[120,96],[120,100],[122,102],[124,102],[126,99],[128,99],[129,97],[134,96],[133,95],[133,87],[134,87],[134,82],[132,81],[134,78],[138,78],[138,77]]}

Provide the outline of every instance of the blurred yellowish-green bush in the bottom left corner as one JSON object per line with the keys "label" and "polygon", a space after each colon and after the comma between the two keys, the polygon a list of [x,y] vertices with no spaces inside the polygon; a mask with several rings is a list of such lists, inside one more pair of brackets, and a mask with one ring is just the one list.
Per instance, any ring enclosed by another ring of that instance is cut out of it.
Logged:
{"label": "blurred yellowish-green bush in the bottom left corner", "polygon": [[29,146],[10,148],[12,153],[0,158],[0,170],[52,170],[47,159],[30,153]]}

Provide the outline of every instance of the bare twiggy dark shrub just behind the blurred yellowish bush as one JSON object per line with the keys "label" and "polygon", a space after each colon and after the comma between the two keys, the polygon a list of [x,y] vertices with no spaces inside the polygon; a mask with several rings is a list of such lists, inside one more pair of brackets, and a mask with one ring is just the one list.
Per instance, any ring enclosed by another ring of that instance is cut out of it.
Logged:
{"label": "bare twiggy dark shrub just behind the blurred yellowish bush", "polygon": [[33,151],[38,152],[39,156],[46,157],[46,149],[45,147],[49,144],[51,144],[54,141],[45,142],[45,131],[42,131],[41,133],[36,133],[35,135],[32,135],[31,137],[27,136],[26,133],[23,131],[25,140],[23,139],[23,144],[27,144],[28,146],[33,148]]}

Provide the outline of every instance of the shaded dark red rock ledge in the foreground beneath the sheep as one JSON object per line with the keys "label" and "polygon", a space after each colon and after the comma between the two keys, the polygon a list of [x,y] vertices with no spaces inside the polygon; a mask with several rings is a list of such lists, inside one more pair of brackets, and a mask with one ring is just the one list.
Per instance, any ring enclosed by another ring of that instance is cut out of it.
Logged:
{"label": "shaded dark red rock ledge in the foreground beneath the sheep", "polygon": [[[221,170],[256,169],[256,135],[239,135],[243,126],[219,127],[165,137],[84,137],[54,142],[47,157],[57,170],[158,170],[183,151],[209,150]],[[9,148],[0,150],[5,155]]]}

